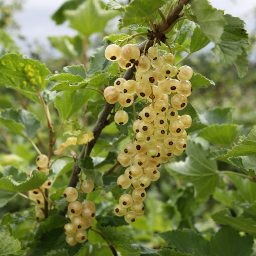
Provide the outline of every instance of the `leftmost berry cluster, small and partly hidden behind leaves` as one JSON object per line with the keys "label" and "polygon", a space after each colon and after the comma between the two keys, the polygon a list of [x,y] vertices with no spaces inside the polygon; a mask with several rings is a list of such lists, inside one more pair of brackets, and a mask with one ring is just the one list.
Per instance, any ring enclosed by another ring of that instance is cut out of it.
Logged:
{"label": "leftmost berry cluster, small and partly hidden behind leaves", "polygon": [[[46,155],[39,155],[36,160],[38,171],[43,171],[49,174],[49,159]],[[53,181],[47,180],[39,188],[30,190],[28,192],[28,198],[36,203],[35,212],[36,219],[42,220],[45,218],[45,194],[48,193],[48,189],[52,186]],[[48,204],[48,207],[50,205]]]}

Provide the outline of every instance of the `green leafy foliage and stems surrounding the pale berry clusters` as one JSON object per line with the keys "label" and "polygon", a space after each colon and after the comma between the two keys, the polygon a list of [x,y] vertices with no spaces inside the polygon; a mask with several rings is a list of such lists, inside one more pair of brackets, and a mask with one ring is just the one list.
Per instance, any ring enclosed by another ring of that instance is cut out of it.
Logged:
{"label": "green leafy foliage and stems surrounding the pale berry clusters", "polygon": [[[255,67],[248,78],[234,80],[235,67],[239,77],[247,73],[248,35],[242,20],[207,0],[184,6],[177,2],[66,1],[52,19],[56,24],[68,21],[77,35],[49,37],[62,53],[61,60],[53,58],[51,73],[45,64],[17,53],[9,31],[0,31],[1,51],[10,52],[0,57],[0,255],[254,255],[256,126],[250,97],[255,95]],[[0,3],[0,12],[7,15],[9,9],[3,7]],[[179,8],[179,19],[171,16]],[[109,26],[117,15],[118,32]],[[106,104],[104,88],[118,77],[135,77],[108,61],[105,49],[112,43],[145,45],[150,36],[161,41],[155,44],[160,54],[175,55],[178,68],[193,68],[193,93],[186,108],[178,110],[193,122],[186,129],[185,153],[174,153],[162,163],[160,179],[146,188],[144,215],[128,224],[113,212],[120,195],[134,189],[117,185],[126,169],[117,156],[134,141],[134,117],[149,103],[134,98],[130,107]],[[210,42],[215,44],[211,54],[229,69],[220,70],[208,53],[201,57],[199,51]],[[129,116],[124,125],[113,122],[120,109]],[[41,154],[48,155],[48,168],[36,165]],[[50,179],[51,188],[44,189]],[[84,179],[95,183],[91,193],[81,191]],[[96,206],[96,218],[86,231],[88,241],[74,246],[66,243],[63,233],[70,221],[63,217],[69,204],[63,196],[67,186],[76,187],[78,200]],[[28,193],[37,188],[44,193],[40,206]],[[46,218],[39,220],[42,210]]]}

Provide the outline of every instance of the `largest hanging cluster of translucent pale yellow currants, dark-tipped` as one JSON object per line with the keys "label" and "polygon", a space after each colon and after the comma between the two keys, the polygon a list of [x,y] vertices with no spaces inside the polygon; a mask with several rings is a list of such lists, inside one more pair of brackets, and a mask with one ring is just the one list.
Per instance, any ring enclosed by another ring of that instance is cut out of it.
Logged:
{"label": "largest hanging cluster of translucent pale yellow currants, dark-tipped", "polygon": [[[132,223],[144,213],[145,188],[151,181],[159,179],[157,168],[162,162],[169,161],[172,155],[180,156],[187,146],[185,129],[190,127],[192,119],[187,114],[180,116],[178,110],[187,106],[187,97],[192,92],[189,80],[193,71],[189,66],[178,69],[173,54],[160,56],[154,46],[147,50],[146,55],[141,55],[134,44],[122,48],[112,44],[106,48],[105,57],[117,61],[123,69],[132,65],[136,68],[136,81],[118,78],[113,86],[104,90],[106,101],[128,107],[134,102],[134,94],[147,100],[133,123],[134,143],[126,144],[124,152],[117,158],[123,167],[127,167],[118,177],[117,184],[123,189],[132,185],[132,189],[130,194],[121,195],[114,213],[124,215],[126,222]],[[114,120],[120,125],[125,124],[128,114],[119,110]]]}

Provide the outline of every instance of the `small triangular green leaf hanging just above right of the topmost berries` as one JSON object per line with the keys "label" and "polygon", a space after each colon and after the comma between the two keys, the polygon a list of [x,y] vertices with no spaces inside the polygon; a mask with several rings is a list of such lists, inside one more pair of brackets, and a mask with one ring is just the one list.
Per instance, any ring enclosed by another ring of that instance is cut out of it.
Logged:
{"label": "small triangular green leaf hanging just above right of the topmost berries", "polygon": [[199,26],[196,26],[193,30],[193,34],[191,36],[191,42],[190,42],[190,52],[198,51],[207,44],[210,43],[210,40],[208,37],[206,37],[205,33],[200,29]]}

